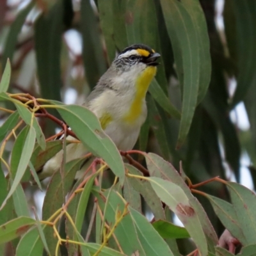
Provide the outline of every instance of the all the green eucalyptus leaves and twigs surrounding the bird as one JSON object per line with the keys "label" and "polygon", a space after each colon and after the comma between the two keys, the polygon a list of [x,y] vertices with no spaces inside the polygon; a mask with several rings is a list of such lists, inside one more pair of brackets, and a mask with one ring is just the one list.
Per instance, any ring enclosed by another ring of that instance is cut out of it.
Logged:
{"label": "all the green eucalyptus leaves and twigs surrounding the bird", "polygon": [[[256,198],[237,182],[246,154],[256,177],[255,1],[225,0],[224,30],[214,0],[75,2],[0,1],[0,254],[230,256],[218,246],[227,228],[238,255],[254,255]],[[138,143],[118,152],[91,111],[60,101],[76,92],[83,102],[116,52],[138,43],[161,65]],[[231,118],[241,104],[246,129]],[[90,154],[64,154],[41,184],[36,171],[77,143],[68,134],[97,158],[83,166]]]}

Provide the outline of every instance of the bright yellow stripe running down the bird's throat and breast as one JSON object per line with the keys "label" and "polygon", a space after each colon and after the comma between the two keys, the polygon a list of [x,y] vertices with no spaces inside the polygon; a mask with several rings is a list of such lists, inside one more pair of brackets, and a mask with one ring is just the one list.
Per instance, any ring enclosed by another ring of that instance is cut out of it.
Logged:
{"label": "bright yellow stripe running down the bird's throat and breast", "polygon": [[156,67],[149,66],[136,80],[136,95],[132,101],[131,107],[124,116],[125,122],[132,124],[141,115],[143,100],[146,97],[148,86],[156,75]]}

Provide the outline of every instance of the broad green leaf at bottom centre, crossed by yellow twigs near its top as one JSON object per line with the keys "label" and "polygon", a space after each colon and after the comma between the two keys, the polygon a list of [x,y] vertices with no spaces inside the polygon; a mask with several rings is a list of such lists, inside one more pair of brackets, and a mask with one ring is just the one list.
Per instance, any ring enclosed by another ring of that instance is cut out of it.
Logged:
{"label": "broad green leaf at bottom centre, crossed by yellow twigs near its top", "polygon": [[[115,212],[118,211],[117,216],[120,216],[124,208],[127,207],[125,206],[127,203],[115,191],[110,190],[108,194],[105,193],[104,195],[108,195],[104,216],[108,223],[115,223]],[[102,202],[100,202],[100,207],[104,207]],[[132,255],[132,253],[137,252],[141,256],[173,255],[168,245],[148,220],[129,206],[128,210],[129,214],[120,221],[115,229],[115,236],[118,238],[124,253]]]}

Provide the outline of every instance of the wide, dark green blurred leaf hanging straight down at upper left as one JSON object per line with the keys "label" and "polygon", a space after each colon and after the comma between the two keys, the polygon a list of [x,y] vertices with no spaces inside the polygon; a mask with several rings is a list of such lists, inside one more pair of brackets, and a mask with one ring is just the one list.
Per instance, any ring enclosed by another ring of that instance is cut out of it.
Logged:
{"label": "wide, dark green blurred leaf hanging straight down at upper left", "polygon": [[58,0],[48,12],[42,13],[35,22],[36,66],[40,91],[44,99],[61,99],[62,33],[63,1]]}

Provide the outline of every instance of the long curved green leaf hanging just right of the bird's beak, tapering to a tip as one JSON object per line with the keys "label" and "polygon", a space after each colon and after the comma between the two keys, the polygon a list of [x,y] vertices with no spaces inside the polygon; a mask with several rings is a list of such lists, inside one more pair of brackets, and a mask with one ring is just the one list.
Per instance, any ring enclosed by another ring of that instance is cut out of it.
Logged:
{"label": "long curved green leaf hanging just right of the bird's beak, tapering to a tip", "polygon": [[[177,148],[184,143],[195,112],[200,78],[199,45],[193,19],[183,4],[179,1],[161,1],[168,34],[172,41],[175,61],[177,55],[182,56],[177,62],[177,69],[184,77],[179,77],[183,84],[182,115],[180,120]],[[172,40],[173,39],[173,40]],[[177,51],[177,53],[175,53]],[[182,64],[182,66],[181,66]],[[179,74],[179,73],[178,73]],[[184,81],[183,81],[184,79]]]}

